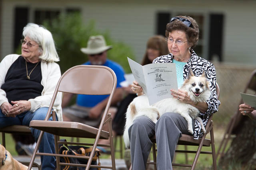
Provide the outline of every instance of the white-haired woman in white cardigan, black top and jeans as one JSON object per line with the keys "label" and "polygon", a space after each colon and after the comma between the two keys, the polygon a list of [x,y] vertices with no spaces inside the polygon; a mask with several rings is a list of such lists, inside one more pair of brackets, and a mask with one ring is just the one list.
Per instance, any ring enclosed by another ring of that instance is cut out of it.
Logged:
{"label": "white-haired woman in white cardigan, black top and jeans", "polygon": [[[7,55],[0,63],[0,128],[44,120],[61,76],[50,31],[28,23],[23,36],[21,55]],[[62,121],[61,94],[57,95],[54,109]],[[31,133],[37,141],[40,131],[31,129]],[[39,152],[55,152],[53,135],[44,133]],[[41,162],[43,170],[55,169],[54,156],[41,156]]]}

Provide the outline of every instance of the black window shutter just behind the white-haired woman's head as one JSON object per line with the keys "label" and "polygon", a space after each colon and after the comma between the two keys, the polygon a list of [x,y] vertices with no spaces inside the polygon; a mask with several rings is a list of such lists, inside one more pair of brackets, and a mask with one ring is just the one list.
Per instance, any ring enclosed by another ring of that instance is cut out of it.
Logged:
{"label": "black window shutter just behind the white-haired woman's head", "polygon": [[28,8],[16,7],[15,8],[15,23],[14,23],[14,52],[20,46],[20,39],[22,39],[23,28],[28,23]]}

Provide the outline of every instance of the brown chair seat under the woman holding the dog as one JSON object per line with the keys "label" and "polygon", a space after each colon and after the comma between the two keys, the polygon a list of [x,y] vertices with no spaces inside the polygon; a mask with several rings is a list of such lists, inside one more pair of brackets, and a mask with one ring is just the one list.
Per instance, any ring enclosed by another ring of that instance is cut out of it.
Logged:
{"label": "brown chair seat under the woman holding the dog", "polygon": [[[150,138],[153,143],[156,143],[156,135]],[[198,146],[200,143],[200,139],[194,139],[191,135],[184,135],[182,134],[182,137],[180,137],[178,141],[178,145],[190,145],[190,146]],[[211,140],[210,139],[204,139],[203,146],[210,147]]]}

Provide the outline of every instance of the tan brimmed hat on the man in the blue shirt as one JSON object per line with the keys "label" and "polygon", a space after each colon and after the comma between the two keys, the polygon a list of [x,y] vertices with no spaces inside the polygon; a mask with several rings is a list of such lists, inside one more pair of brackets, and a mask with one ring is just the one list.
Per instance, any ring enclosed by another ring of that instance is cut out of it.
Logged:
{"label": "tan brimmed hat on the man in the blue shirt", "polygon": [[98,54],[111,49],[112,46],[106,46],[106,41],[102,35],[90,36],[87,48],[81,48],[81,51],[85,54]]}

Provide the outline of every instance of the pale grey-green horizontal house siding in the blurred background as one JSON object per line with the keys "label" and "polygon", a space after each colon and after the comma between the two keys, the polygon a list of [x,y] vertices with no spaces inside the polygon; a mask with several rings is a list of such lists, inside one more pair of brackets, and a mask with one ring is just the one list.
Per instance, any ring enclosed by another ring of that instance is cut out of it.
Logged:
{"label": "pale grey-green horizontal house siding in the blurred background", "polygon": [[[256,65],[254,0],[3,0],[0,58],[13,53],[14,8],[24,5],[30,7],[30,21],[34,19],[32,11],[35,8],[80,8],[84,22],[93,19],[97,29],[108,29],[114,39],[130,45],[138,62],[144,55],[147,39],[156,33],[157,12],[202,14],[206,22],[204,28],[208,27],[208,14],[224,14],[224,62]],[[203,43],[207,49],[207,37]],[[207,50],[204,54],[207,54]]]}

